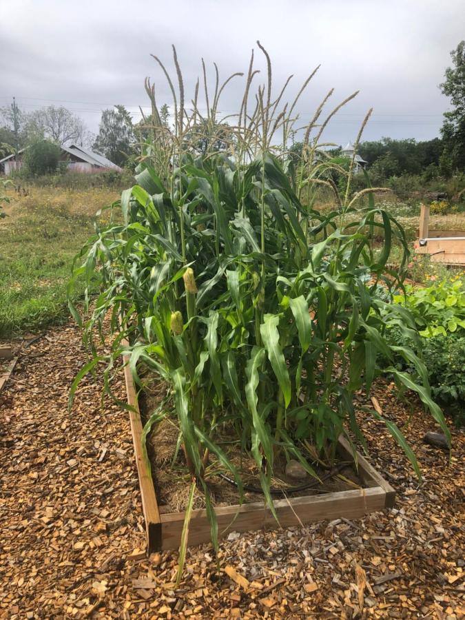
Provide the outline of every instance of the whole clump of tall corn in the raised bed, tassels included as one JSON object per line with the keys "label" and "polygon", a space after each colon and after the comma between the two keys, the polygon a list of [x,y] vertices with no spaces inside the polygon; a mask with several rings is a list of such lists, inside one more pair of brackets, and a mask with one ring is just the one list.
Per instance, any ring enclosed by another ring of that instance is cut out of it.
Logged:
{"label": "whole clump of tall corn in the raised bed, tassels included", "polygon": [[[234,477],[242,501],[240,471],[221,442],[225,429],[253,456],[273,512],[270,483],[277,457],[298,459],[313,475],[308,446],[313,460],[328,461],[340,433],[363,442],[353,394],[362,386],[369,392],[378,375],[393,375],[416,391],[448,433],[422,362],[408,347],[384,338],[393,326],[414,337],[415,321],[407,309],[373,294],[380,282],[387,289],[402,287],[400,273],[386,265],[393,242],[403,248],[404,265],[404,231],[389,212],[375,207],[373,188],[351,193],[353,161],[344,169],[322,147],[327,123],[355,94],[320,121],[329,92],[304,130],[296,162],[289,156],[289,136],[298,121],[298,99],[315,72],[296,99],[282,103],[289,80],[273,94],[271,62],[259,47],[267,81],[251,105],[257,75],[252,55],[234,122],[218,118],[218,101],[240,74],[220,84],[216,70],[210,96],[203,63],[207,112],[200,113],[199,83],[187,112],[176,50],[178,92],[156,59],[174,96],[174,125],[161,123],[147,81],[152,138],[143,145],[136,185],[121,196],[120,223],[97,229],[83,249],[70,283],[72,289],[84,277],[89,289],[97,284],[101,291],[85,324],[93,356],[74,382],[71,402],[77,382],[102,359],[109,389],[123,352],[130,354],[138,384],[141,367],[163,378],[174,413],[154,412],[145,435],[164,416],[176,416],[185,467],[205,492],[215,545],[209,462]],[[202,149],[199,136],[205,138]],[[347,180],[343,195],[327,174],[331,167]],[[314,207],[320,187],[334,196],[334,208],[324,214]],[[374,254],[372,238],[380,234],[384,245]],[[72,312],[81,320],[74,307]],[[95,338],[107,337],[108,316],[112,349],[102,357]],[[409,360],[415,375],[395,368],[397,355]],[[384,422],[420,475],[400,430]]]}

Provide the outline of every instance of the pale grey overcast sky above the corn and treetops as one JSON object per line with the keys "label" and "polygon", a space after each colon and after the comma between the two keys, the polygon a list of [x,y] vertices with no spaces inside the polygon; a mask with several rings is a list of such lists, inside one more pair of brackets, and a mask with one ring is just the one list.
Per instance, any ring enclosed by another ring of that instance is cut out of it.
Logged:
{"label": "pale grey overcast sky above the corn and treetops", "polygon": [[[330,87],[334,104],[360,90],[328,127],[327,141],[353,139],[369,107],[364,139],[428,140],[448,109],[437,86],[464,23],[464,0],[0,0],[0,107],[12,96],[25,111],[65,105],[97,132],[101,110],[115,103],[141,118],[145,76],[157,101],[170,102],[150,54],[172,66],[176,45],[189,100],[201,57],[210,69],[216,61],[223,78],[246,72],[260,39],[276,89],[294,75],[289,95],[321,63],[298,105],[302,121]],[[259,50],[256,59],[262,81]],[[221,110],[236,110],[242,87],[241,79],[228,85]]]}

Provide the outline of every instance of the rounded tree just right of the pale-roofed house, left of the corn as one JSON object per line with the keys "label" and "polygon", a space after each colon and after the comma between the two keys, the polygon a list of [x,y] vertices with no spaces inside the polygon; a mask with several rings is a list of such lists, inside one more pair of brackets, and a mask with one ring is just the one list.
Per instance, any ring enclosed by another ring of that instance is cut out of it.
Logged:
{"label": "rounded tree just right of the pale-roofed house, left of the corn", "polygon": [[103,110],[94,149],[118,166],[125,165],[135,142],[132,118],[124,105]]}

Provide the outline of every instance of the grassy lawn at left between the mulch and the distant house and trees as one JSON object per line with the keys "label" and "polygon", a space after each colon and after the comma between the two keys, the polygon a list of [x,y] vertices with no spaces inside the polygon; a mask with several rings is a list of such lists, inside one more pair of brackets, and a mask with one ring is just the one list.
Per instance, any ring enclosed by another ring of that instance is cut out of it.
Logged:
{"label": "grassy lawn at left between the mulch and the distant house and trees", "polygon": [[0,220],[0,338],[66,320],[72,260],[92,234],[96,211],[118,192],[32,187],[29,196],[8,196]]}

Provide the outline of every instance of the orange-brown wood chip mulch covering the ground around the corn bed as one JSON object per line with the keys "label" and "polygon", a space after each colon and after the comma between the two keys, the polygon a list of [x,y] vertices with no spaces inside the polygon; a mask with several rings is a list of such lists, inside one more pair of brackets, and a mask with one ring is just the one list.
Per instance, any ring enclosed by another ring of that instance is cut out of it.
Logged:
{"label": "orange-brown wood chip mulch covering the ground around the corn bed", "polygon": [[[392,386],[375,390],[405,424],[420,485],[386,429],[366,420],[372,462],[397,490],[393,510],[306,528],[231,533],[216,559],[143,553],[141,502],[127,413],[101,405],[99,378],[68,391],[85,362],[79,330],[48,331],[23,349],[0,394],[0,618],[464,617],[464,433],[451,464],[422,444],[436,430]],[[123,397],[123,384],[117,390]]]}

